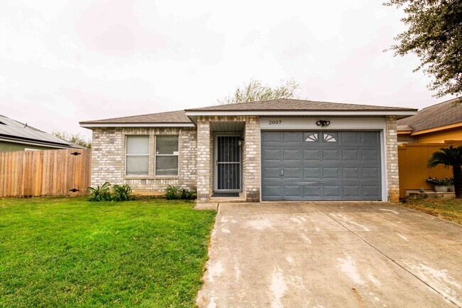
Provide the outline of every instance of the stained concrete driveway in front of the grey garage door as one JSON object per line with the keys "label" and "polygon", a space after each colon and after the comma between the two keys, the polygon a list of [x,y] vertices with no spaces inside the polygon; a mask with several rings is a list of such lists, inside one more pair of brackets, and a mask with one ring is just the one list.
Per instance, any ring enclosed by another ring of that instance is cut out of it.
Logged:
{"label": "stained concrete driveway in front of the grey garage door", "polygon": [[462,307],[461,235],[391,203],[222,203],[198,306]]}

